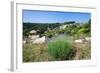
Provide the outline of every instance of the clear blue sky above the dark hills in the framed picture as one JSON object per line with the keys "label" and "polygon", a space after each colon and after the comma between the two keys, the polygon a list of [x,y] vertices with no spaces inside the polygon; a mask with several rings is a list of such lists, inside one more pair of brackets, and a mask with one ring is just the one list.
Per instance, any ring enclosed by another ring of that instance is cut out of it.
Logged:
{"label": "clear blue sky above the dark hills in the framed picture", "polygon": [[22,21],[29,23],[62,23],[68,21],[84,23],[89,19],[91,19],[91,14],[83,12],[58,12],[39,10],[23,10],[22,12]]}

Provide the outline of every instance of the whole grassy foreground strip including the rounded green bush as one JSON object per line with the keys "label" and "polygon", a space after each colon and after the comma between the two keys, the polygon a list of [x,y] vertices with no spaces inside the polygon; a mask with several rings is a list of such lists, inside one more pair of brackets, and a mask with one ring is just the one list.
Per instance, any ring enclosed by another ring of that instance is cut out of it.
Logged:
{"label": "whole grassy foreground strip including the rounded green bush", "polygon": [[71,37],[60,35],[45,44],[23,44],[23,62],[75,60],[76,53],[77,60],[90,59],[90,42],[74,44]]}

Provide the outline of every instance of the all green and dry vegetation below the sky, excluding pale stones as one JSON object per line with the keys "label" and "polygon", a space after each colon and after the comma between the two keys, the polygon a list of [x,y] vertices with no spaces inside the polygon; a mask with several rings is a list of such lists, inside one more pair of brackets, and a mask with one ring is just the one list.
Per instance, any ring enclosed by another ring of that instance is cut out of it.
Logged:
{"label": "all green and dry vegetation below the sky, excluding pale stones", "polygon": [[[66,25],[60,29],[60,26]],[[29,32],[45,36],[46,43],[34,44],[29,40]],[[23,62],[81,60],[91,58],[91,41],[75,43],[77,39],[91,37],[91,20],[86,23],[23,23]]]}

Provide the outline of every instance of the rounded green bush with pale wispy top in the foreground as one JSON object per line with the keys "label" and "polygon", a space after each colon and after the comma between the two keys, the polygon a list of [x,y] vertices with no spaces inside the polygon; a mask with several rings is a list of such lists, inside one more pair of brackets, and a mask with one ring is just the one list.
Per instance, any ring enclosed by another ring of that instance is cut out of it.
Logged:
{"label": "rounded green bush with pale wispy top in the foreground", "polygon": [[53,38],[48,43],[48,53],[56,60],[72,59],[74,49],[72,48],[71,38],[65,35]]}

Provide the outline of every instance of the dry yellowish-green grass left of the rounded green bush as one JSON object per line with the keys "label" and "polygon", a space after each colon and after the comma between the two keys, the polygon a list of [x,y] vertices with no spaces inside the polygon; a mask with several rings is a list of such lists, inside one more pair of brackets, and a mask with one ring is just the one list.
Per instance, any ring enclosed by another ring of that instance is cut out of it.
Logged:
{"label": "dry yellowish-green grass left of the rounded green bush", "polygon": [[51,61],[46,44],[26,43],[23,45],[23,62]]}

